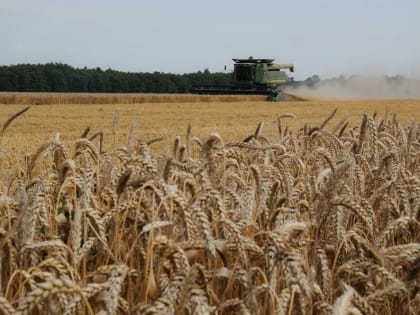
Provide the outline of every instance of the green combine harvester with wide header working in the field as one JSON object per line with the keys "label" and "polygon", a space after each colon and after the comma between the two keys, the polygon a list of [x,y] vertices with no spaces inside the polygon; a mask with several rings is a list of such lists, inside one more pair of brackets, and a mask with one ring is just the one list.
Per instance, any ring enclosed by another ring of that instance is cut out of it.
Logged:
{"label": "green combine harvester with wide header working in the field", "polygon": [[194,86],[193,94],[267,95],[270,100],[285,98],[282,87],[293,81],[284,69],[294,72],[293,64],[275,64],[274,59],[233,59],[233,77],[229,86]]}

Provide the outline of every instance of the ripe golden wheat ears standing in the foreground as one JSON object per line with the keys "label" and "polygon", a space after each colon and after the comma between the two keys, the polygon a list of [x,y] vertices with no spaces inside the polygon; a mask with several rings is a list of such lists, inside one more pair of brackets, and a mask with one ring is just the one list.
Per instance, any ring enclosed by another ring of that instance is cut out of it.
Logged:
{"label": "ripe golden wheat ears standing in the foreground", "polygon": [[166,155],[47,142],[1,170],[0,312],[419,314],[419,126],[334,113]]}

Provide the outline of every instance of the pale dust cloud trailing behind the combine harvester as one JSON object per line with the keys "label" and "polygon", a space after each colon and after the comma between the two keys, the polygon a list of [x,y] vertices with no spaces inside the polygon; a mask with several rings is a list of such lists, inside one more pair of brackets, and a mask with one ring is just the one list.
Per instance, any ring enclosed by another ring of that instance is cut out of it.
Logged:
{"label": "pale dust cloud trailing behind the combine harvester", "polygon": [[351,76],[288,87],[286,93],[317,99],[420,99],[420,80],[401,76]]}

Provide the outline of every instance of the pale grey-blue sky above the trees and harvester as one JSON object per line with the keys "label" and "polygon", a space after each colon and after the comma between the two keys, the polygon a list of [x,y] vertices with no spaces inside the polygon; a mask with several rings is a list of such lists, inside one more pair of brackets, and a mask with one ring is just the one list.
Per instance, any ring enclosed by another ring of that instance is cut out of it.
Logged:
{"label": "pale grey-blue sky above the trees and harvester", "polygon": [[420,78],[419,0],[0,0],[0,65],[129,72],[293,63],[294,77]]}

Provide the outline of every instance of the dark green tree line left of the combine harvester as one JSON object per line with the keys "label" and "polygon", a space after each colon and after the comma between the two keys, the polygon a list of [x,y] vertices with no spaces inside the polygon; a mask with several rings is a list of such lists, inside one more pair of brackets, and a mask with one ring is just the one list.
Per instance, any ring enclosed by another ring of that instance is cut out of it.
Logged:
{"label": "dark green tree line left of the combine harvester", "polygon": [[228,85],[230,73],[131,73],[62,63],[0,66],[0,91],[188,93],[194,85]]}

